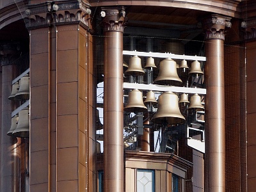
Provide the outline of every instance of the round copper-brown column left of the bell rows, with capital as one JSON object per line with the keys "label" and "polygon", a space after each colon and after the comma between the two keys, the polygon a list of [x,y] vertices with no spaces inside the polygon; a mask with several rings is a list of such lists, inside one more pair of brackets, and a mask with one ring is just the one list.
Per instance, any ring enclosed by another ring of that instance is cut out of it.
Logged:
{"label": "round copper-brown column left of the bell rows, with capital", "polygon": [[104,17],[104,192],[124,191],[124,8],[102,8]]}

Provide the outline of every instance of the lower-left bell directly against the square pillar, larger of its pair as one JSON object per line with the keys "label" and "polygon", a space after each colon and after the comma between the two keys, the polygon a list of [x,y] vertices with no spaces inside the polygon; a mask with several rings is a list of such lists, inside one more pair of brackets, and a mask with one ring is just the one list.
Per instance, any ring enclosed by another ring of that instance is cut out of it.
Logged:
{"label": "lower-left bell directly against the square pillar, larger of its pair", "polygon": [[19,111],[18,125],[12,134],[17,138],[29,138],[29,108]]}

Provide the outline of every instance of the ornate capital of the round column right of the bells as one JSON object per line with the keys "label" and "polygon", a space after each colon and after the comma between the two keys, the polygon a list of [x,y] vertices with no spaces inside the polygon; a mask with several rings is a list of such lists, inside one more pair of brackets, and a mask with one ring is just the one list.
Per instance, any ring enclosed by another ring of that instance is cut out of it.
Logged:
{"label": "ornate capital of the round column right of the bells", "polygon": [[231,17],[223,15],[212,14],[205,17],[203,26],[205,29],[205,39],[221,39],[225,40],[225,29],[231,28]]}

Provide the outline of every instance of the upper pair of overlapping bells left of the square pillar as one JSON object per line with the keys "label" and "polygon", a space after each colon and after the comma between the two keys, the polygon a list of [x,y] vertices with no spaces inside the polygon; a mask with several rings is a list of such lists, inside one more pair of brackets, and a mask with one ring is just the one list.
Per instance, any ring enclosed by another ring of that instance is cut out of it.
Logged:
{"label": "upper pair of overlapping bells left of the square pillar", "polygon": [[8,97],[10,100],[28,100],[29,99],[29,75],[20,78],[12,85],[12,93]]}

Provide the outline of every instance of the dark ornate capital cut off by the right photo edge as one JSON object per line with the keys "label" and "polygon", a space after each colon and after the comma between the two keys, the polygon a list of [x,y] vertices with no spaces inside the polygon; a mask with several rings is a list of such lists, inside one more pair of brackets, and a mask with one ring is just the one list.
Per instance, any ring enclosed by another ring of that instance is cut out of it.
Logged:
{"label": "dark ornate capital cut off by the right photo edge", "polygon": [[256,38],[256,18],[241,22],[244,40]]}

